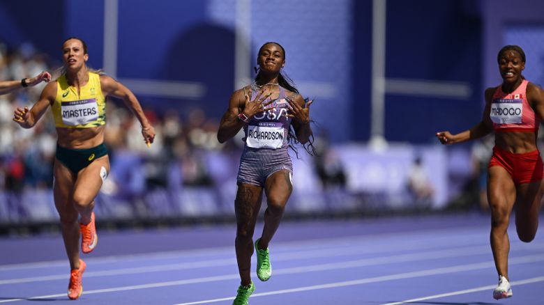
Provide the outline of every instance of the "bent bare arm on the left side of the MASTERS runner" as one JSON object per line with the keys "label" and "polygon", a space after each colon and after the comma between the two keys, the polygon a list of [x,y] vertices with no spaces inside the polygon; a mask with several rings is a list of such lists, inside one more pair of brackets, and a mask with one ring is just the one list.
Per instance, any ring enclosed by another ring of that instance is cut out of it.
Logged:
{"label": "bent bare arm on the left side of the MASTERS runner", "polygon": [[56,96],[56,82],[47,84],[43,88],[40,99],[29,110],[28,107],[24,109],[18,107],[13,114],[13,120],[23,128],[31,128],[36,125],[38,120],[45,114],[47,107],[54,102]]}

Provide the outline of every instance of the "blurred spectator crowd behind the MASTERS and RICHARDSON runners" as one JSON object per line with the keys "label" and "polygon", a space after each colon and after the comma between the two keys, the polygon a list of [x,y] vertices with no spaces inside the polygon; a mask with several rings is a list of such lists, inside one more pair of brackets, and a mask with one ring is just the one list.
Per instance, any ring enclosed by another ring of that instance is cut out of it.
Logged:
{"label": "blurred spectator crowd behind the MASTERS and RICHARDSON runners", "polygon": [[[0,42],[1,80],[31,77],[43,70],[54,72],[60,65],[50,63],[31,44],[8,49]],[[52,187],[56,132],[51,111],[30,130],[12,121],[13,109],[31,107],[44,86],[0,96],[0,189]],[[207,118],[202,109],[188,109],[184,113],[169,109],[158,114],[144,107],[158,134],[151,148],[145,145],[138,121],[122,101],[107,100],[106,111],[105,143],[112,165],[110,178],[103,186],[107,193],[132,197],[155,187],[212,187],[225,176],[236,173],[243,148],[241,134],[234,141],[220,144],[216,138],[218,120]],[[342,164],[333,153],[326,153],[327,148],[324,142],[319,146],[320,157],[315,160],[317,174],[324,187],[345,185]]]}

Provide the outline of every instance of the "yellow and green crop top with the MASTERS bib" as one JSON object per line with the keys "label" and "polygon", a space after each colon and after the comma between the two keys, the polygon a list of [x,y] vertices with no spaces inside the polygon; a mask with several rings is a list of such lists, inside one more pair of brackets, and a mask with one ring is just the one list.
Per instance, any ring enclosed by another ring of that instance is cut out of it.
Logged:
{"label": "yellow and green crop top with the MASTERS bib", "polygon": [[66,75],[56,79],[56,97],[51,105],[56,127],[89,128],[105,125],[106,101],[100,75],[89,72],[89,81],[80,88],[68,86]]}

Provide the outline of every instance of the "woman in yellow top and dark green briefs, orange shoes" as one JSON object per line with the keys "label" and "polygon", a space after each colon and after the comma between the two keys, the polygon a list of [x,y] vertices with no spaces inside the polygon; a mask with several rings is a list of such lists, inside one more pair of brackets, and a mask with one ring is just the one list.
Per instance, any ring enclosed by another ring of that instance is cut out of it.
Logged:
{"label": "woman in yellow top and dark green briefs, orange shoes", "polygon": [[[94,198],[109,173],[109,159],[104,146],[105,97],[121,98],[142,124],[146,143],[153,143],[155,130],[149,123],[135,95],[118,81],[87,68],[86,43],[68,38],[62,45],[63,72],[43,89],[31,109],[17,108],[13,120],[31,128],[50,106],[58,140],[54,162],[54,202],[59,212],[62,236],[68,260],[70,283],[68,297],[77,299],[83,292],[82,275],[86,264],[82,251],[89,253],[98,242],[94,225]],[[78,219],[79,218],[79,219]]]}

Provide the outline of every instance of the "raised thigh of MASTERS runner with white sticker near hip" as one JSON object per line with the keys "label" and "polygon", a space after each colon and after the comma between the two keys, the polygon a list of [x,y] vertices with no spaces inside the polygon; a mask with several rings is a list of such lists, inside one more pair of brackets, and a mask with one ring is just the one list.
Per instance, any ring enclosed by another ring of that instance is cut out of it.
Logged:
{"label": "raised thigh of MASTERS runner with white sticker near hip", "polygon": [[100,191],[107,175],[109,175],[109,157],[105,155],[96,159],[77,174],[74,198],[83,202],[91,202]]}

